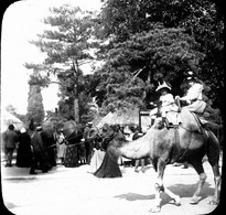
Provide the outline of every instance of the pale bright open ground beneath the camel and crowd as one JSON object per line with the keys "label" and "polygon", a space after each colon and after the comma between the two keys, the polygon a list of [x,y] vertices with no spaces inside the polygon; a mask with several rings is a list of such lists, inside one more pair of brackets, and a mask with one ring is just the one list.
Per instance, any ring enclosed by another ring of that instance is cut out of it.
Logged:
{"label": "pale bright open ground beneath the camel and crowd", "polygon": [[[2,196],[4,205],[17,215],[146,215],[154,198],[155,172],[151,165],[146,173],[120,166],[122,178],[97,179],[87,173],[89,165],[64,168],[58,165],[49,173],[29,175],[29,169],[2,166]],[[198,176],[193,168],[168,165],[164,185],[181,196],[175,206],[163,193],[160,215],[194,215],[213,212],[208,201],[214,194],[211,165],[204,162],[207,174],[197,205],[190,200]]]}

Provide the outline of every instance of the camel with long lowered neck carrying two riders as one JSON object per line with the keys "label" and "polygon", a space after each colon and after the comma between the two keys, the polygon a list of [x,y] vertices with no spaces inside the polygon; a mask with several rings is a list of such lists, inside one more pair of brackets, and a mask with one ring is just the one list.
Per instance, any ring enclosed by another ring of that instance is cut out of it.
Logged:
{"label": "camel with long lowered neck carrying two riders", "polygon": [[[174,200],[175,205],[181,205],[180,196],[175,195],[163,185],[165,166],[174,162],[187,161],[194,166],[200,175],[200,181],[191,200],[191,204],[197,204],[200,202],[200,193],[206,180],[206,174],[202,164],[202,159],[205,154],[212,165],[215,181],[215,192],[209,204],[218,204],[219,201],[220,173],[218,161],[220,150],[218,140],[209,129],[202,129],[202,131],[200,131],[195,128],[195,126],[191,123],[194,121],[192,115],[187,115],[186,111],[182,111],[182,114],[186,117],[183,123],[177,126],[177,128],[165,128],[162,123],[162,119],[158,118],[148,132],[134,141],[123,141],[122,133],[120,133],[119,130],[115,131],[115,139],[117,139],[116,141],[118,142],[116,147],[120,155],[127,159],[150,158],[152,161],[158,174],[154,185],[154,204],[151,209],[153,213],[161,211],[161,192],[164,192]],[[110,133],[110,127],[104,130],[108,130],[108,133]]]}

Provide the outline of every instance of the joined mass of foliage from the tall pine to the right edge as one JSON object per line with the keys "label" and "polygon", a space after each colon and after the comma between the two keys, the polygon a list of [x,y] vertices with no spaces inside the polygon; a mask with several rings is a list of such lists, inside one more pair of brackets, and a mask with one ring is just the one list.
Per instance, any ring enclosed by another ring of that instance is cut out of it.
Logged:
{"label": "joined mass of foliage from the tall pine to the right edge", "polygon": [[[51,30],[32,41],[47,56],[26,66],[34,71],[30,84],[49,86],[57,76],[60,110],[67,118],[92,119],[92,97],[100,115],[147,108],[162,79],[182,95],[189,71],[205,83],[208,118],[219,115],[209,106],[222,108],[223,101],[224,17],[213,1],[106,0],[98,15],[69,6],[51,11],[44,19]],[[84,76],[80,66],[96,56],[104,66]]]}

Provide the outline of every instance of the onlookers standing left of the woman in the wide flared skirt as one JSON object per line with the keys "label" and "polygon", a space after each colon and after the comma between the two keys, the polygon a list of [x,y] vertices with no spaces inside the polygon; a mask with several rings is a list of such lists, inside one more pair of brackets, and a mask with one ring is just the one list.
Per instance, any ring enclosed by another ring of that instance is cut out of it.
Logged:
{"label": "onlookers standing left of the woman in the wide flared skirt", "polygon": [[12,166],[13,154],[15,165],[31,168],[30,174],[36,174],[36,170],[47,172],[57,164],[69,168],[78,166],[78,162],[89,164],[94,152],[94,141],[88,138],[92,127],[93,123],[88,122],[84,131],[73,132],[67,141],[62,129],[50,135],[41,126],[33,130],[22,128],[15,131],[14,126],[10,125],[2,138],[6,166]]}

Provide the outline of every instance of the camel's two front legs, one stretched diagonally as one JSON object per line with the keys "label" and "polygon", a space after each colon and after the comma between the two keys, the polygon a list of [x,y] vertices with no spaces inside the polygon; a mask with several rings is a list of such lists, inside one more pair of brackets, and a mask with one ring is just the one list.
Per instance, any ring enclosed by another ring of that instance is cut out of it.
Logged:
{"label": "camel's two front legs, one stretched diagonally", "polygon": [[155,187],[155,198],[154,198],[154,206],[151,209],[152,213],[160,212],[160,204],[161,204],[160,193],[161,192],[166,193],[172,200],[174,200],[174,202],[177,206],[181,205],[180,196],[175,195],[170,190],[168,190],[163,186],[164,169],[165,169],[165,162],[162,161],[162,160],[159,160],[158,164],[157,164],[158,178],[157,178],[157,182],[155,182],[155,185],[154,185],[154,187]]}

